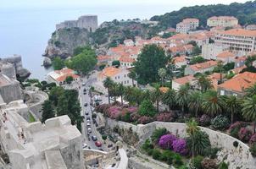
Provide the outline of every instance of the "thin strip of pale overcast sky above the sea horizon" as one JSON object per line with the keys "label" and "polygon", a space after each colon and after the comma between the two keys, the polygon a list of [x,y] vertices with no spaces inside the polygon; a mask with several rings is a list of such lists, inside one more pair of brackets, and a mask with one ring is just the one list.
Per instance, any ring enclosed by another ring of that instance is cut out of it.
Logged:
{"label": "thin strip of pale overcast sky above the sea horizon", "polygon": [[0,0],[0,8],[81,8],[96,6],[119,6],[119,5],[168,5],[181,8],[183,6],[216,4],[216,3],[245,3],[247,0]]}

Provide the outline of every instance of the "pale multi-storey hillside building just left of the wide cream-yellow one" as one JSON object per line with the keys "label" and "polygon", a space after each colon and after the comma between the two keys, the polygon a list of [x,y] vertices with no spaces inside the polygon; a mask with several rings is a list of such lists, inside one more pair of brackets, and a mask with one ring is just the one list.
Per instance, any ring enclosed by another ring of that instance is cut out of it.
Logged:
{"label": "pale multi-storey hillside building just left of the wide cream-yellow one", "polygon": [[186,34],[189,30],[196,30],[199,26],[198,19],[183,19],[176,25],[176,32]]}

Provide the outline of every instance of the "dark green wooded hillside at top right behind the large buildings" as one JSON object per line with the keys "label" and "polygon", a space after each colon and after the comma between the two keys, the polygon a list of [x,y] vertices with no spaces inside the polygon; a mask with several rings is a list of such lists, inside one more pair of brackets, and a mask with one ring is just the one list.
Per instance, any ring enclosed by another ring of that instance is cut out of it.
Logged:
{"label": "dark green wooded hillside at top right behind the large buildings", "polygon": [[164,15],[153,16],[151,20],[159,21],[159,25],[164,28],[174,27],[182,19],[200,19],[200,25],[206,26],[207,19],[211,16],[235,16],[239,19],[240,25],[256,23],[256,1],[247,3],[231,3],[230,5],[203,5],[184,7],[178,11],[166,13]]}

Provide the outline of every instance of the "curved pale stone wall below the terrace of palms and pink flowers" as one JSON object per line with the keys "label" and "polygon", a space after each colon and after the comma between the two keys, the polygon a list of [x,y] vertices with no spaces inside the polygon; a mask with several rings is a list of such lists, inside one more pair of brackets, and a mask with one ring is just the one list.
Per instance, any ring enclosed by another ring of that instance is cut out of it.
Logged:
{"label": "curved pale stone wall below the terrace of palms and pink flowers", "polygon": [[[186,137],[185,123],[153,122],[146,125],[133,125],[131,123],[118,122],[108,118],[107,125],[109,128],[115,128],[118,126],[123,129],[132,129],[132,131],[138,134],[140,138],[139,144],[142,144],[146,139],[150,138],[155,128],[166,128],[170,133],[175,134],[178,137]],[[251,155],[247,144],[242,143],[242,141],[235,139],[230,135],[223,134],[209,128],[200,128],[209,134],[209,139],[213,146],[221,148],[218,158],[219,160],[225,159],[225,161],[229,162],[229,168],[255,168],[256,159]],[[237,148],[233,146],[235,141],[239,144]]]}

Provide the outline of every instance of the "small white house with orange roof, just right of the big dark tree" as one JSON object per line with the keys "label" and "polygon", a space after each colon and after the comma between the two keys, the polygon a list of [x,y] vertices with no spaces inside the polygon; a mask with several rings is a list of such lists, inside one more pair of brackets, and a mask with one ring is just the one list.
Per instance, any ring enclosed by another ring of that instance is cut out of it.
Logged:
{"label": "small white house with orange roof, just right of the big dark tree", "polygon": [[197,79],[193,75],[184,76],[182,78],[173,79],[172,80],[172,89],[173,90],[180,90],[181,85],[196,85]]}

